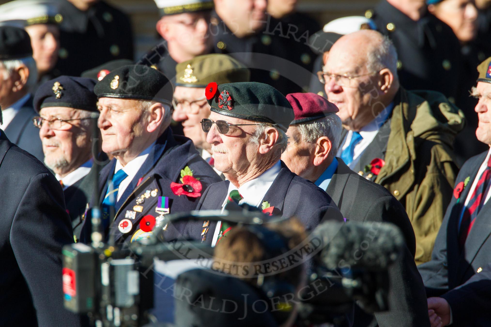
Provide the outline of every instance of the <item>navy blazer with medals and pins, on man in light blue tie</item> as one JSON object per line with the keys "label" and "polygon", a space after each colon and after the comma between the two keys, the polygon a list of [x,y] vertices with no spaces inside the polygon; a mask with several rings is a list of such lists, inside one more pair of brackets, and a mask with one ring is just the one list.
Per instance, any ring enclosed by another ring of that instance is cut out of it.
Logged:
{"label": "navy blazer with medals and pins, on man in light blue tie", "polygon": [[[99,189],[101,198],[99,203],[102,203],[107,193],[109,180],[114,175],[116,159],[113,159],[106,167],[101,170],[99,175]],[[115,205],[115,218],[109,226],[109,234],[114,235],[116,243],[130,242],[132,236],[138,231],[140,220],[146,215],[154,217],[159,216],[155,211],[157,201],[160,196],[169,197],[170,213],[186,212],[196,208],[199,197],[193,198],[186,195],[176,195],[170,188],[172,182],[181,183],[181,170],[189,167],[193,177],[198,177],[202,185],[200,191],[203,194],[204,190],[212,183],[221,181],[221,178],[215,173],[213,168],[201,158],[199,152],[196,151],[192,141],[184,136],[172,135],[170,128],[156,141],[154,148],[151,150],[147,159],[136,173],[135,178],[126,188],[120,200]],[[143,207],[141,212],[136,212],[135,219],[131,219],[133,228],[128,233],[121,233],[118,229],[119,224],[126,217],[127,211],[135,211],[134,206],[138,205],[136,200],[146,191],[157,190],[156,196],[150,196],[144,199],[144,202],[139,204]],[[82,242],[90,241],[91,226],[87,221],[84,221],[82,227]],[[185,222],[178,224],[169,224],[164,237],[168,240],[180,238]]]}

